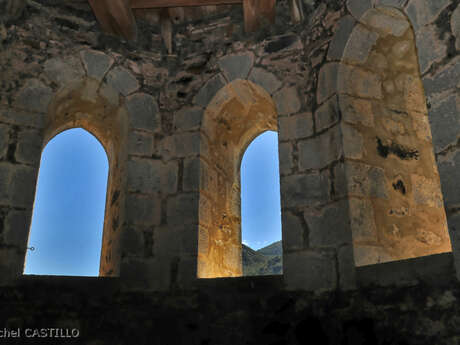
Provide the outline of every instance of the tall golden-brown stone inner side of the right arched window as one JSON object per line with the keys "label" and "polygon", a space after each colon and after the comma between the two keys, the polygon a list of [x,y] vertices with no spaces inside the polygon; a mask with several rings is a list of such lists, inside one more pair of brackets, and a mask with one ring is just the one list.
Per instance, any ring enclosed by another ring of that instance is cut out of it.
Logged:
{"label": "tall golden-brown stone inner side of the right arched window", "polygon": [[356,265],[451,251],[414,33],[401,12],[362,16],[338,87]]}

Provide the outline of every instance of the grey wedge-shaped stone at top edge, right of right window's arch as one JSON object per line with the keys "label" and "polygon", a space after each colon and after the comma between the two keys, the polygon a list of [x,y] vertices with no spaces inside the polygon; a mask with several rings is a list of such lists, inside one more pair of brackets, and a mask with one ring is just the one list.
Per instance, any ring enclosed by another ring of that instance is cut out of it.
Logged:
{"label": "grey wedge-shaped stone at top edge, right of right window's arch", "polygon": [[426,24],[433,23],[450,3],[450,0],[410,0],[406,12],[415,30],[418,30]]}

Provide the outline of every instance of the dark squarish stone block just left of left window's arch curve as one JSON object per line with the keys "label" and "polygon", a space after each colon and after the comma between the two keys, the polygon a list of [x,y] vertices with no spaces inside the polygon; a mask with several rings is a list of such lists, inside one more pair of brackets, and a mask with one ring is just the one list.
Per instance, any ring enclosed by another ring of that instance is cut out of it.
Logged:
{"label": "dark squarish stone block just left of left window's arch curve", "polygon": [[37,164],[40,162],[43,137],[36,130],[22,130],[18,134],[15,158],[17,162]]}

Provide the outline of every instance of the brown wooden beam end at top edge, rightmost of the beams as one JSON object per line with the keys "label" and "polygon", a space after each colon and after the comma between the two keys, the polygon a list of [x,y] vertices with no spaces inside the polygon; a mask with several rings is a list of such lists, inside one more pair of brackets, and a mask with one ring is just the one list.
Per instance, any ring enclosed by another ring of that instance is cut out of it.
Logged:
{"label": "brown wooden beam end at top edge, rightmost of the beams", "polygon": [[253,32],[261,25],[275,22],[276,0],[243,0],[244,28]]}

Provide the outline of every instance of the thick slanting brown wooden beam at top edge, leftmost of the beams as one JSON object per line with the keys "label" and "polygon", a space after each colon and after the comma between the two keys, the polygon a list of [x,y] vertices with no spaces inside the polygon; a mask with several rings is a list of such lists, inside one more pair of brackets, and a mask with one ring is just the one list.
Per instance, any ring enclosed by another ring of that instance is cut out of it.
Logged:
{"label": "thick slanting brown wooden beam at top edge, leftmost of the beams", "polygon": [[137,25],[130,0],[88,0],[102,29],[112,35],[135,41]]}

